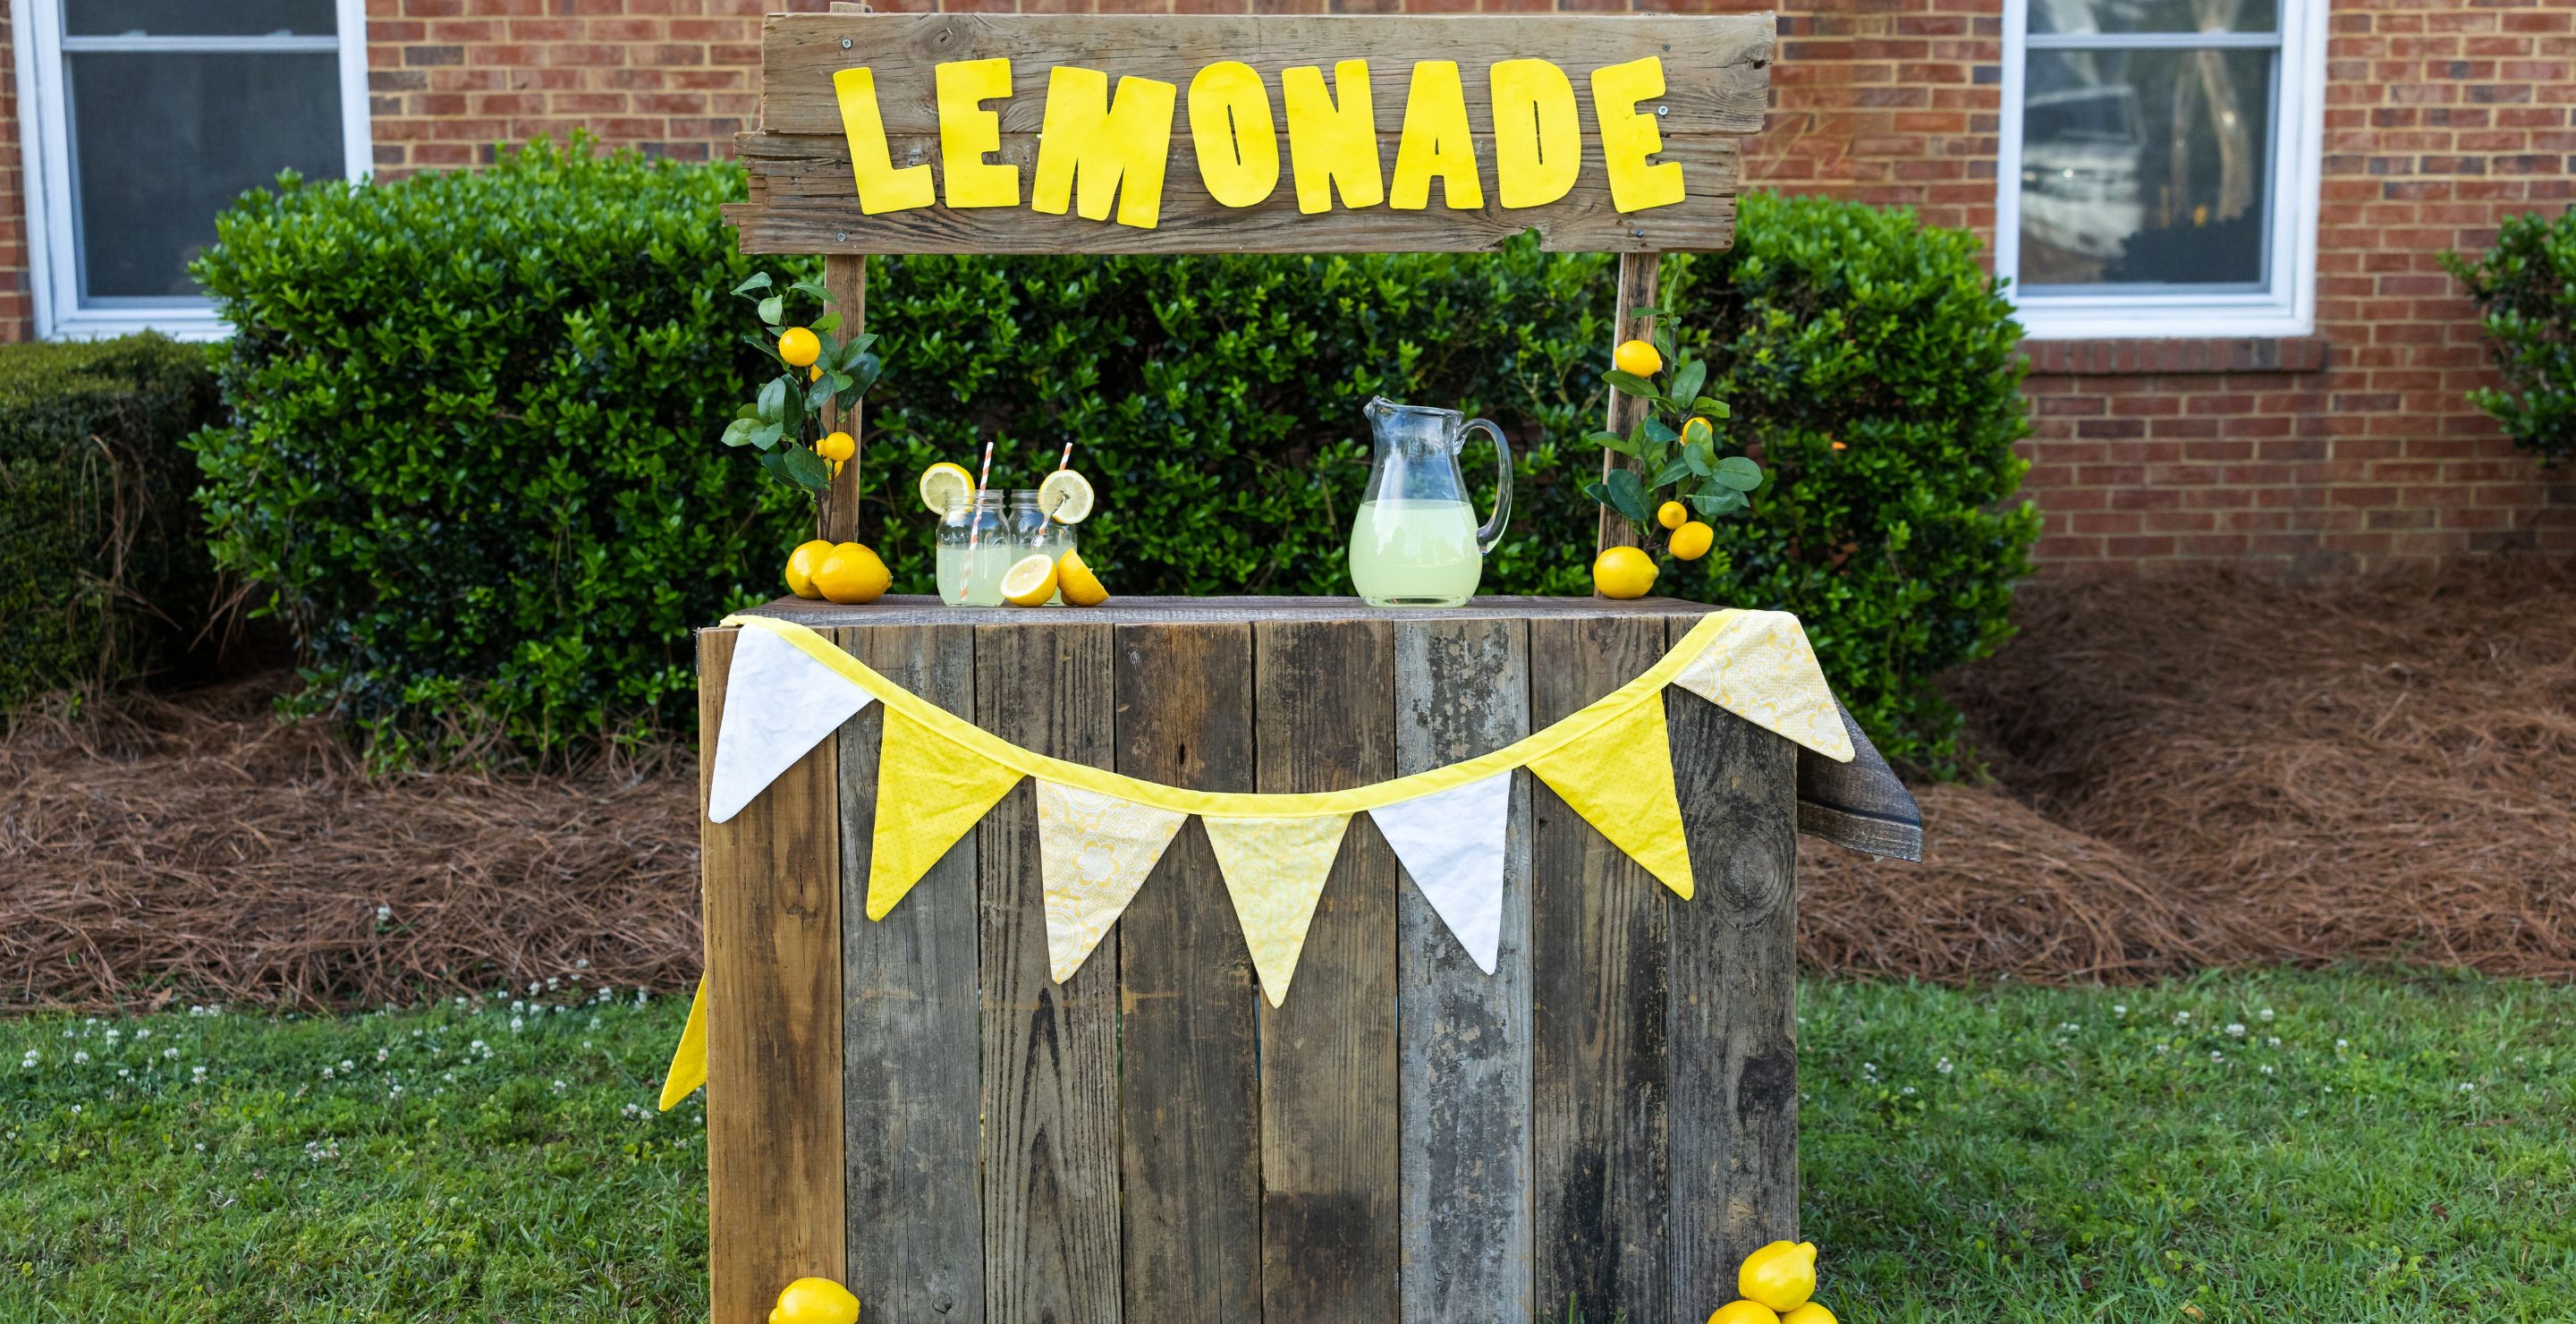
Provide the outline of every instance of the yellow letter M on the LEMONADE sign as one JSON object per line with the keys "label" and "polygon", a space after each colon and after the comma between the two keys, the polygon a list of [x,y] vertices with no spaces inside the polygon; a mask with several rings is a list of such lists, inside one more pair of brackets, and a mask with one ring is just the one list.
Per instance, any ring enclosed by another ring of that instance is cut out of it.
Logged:
{"label": "yellow letter M on the LEMONADE sign", "polygon": [[1038,126],[1038,185],[1030,206],[1061,216],[1082,183],[1079,214],[1154,229],[1162,216],[1162,170],[1172,155],[1172,103],[1180,88],[1151,77],[1121,77],[1110,103],[1110,75],[1056,64],[1046,72],[1046,121]]}

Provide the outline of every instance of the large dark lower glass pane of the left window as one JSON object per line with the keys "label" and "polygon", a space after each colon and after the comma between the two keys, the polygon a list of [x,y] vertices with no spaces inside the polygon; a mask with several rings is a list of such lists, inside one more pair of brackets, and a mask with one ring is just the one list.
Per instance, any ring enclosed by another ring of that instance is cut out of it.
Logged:
{"label": "large dark lower glass pane of the left window", "polygon": [[348,170],[335,54],[67,54],[64,82],[85,299],[193,299],[216,211]]}

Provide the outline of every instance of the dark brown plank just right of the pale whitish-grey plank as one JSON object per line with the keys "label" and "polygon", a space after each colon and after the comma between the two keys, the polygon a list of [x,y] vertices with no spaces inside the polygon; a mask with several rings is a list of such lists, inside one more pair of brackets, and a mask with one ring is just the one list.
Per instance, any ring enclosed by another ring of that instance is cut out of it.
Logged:
{"label": "dark brown plank just right of the pale whitish-grey plank", "polygon": [[[1656,621],[1533,618],[1530,721],[1582,708],[1662,652]],[[1571,1296],[1589,1319],[1680,1319],[1700,1303],[1672,1301],[1669,1283],[1669,894],[1535,778],[1530,801],[1538,1309],[1556,1319]]]}

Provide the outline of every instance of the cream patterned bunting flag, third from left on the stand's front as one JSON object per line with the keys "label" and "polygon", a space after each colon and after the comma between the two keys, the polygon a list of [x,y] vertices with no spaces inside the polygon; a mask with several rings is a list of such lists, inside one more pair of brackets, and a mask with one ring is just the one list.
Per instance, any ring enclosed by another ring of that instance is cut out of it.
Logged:
{"label": "cream patterned bunting flag, third from left on the stand's front", "polygon": [[1038,780],[1046,963],[1064,984],[1136,899],[1188,814]]}

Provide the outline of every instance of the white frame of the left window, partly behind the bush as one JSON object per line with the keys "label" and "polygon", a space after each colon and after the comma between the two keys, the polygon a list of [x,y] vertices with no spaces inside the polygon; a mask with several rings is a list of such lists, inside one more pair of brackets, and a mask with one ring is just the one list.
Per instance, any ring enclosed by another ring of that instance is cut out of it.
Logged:
{"label": "white frame of the left window, partly behind the bush", "polygon": [[62,0],[10,0],[18,59],[18,149],[26,180],[26,260],[39,340],[95,340],[157,330],[222,340],[232,327],[209,299],[118,299],[82,307],[80,224],[72,211],[72,113],[62,57],[80,52],[332,52],[340,57],[340,144],[350,180],[376,165],[366,113],[366,0],[335,0],[337,36],[62,36]]}

